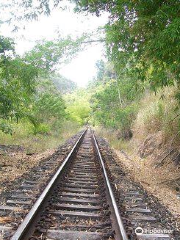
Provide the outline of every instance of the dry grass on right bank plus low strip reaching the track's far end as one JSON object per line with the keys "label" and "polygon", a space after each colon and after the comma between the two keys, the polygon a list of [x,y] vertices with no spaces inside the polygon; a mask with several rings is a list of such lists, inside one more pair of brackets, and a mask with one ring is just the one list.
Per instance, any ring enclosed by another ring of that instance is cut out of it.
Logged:
{"label": "dry grass on right bank plus low strip reaching the track's far end", "polygon": [[[139,110],[135,120],[132,122],[133,141],[118,139],[121,129],[105,129],[96,127],[98,134],[108,140],[115,149],[123,149],[128,152],[137,150],[137,144],[151,134],[162,134],[163,143],[168,141],[178,144],[180,141],[180,114],[178,113],[178,100],[176,95],[178,88],[164,87],[157,93],[146,92],[139,102]],[[137,143],[136,143],[137,141]],[[136,145],[136,146],[135,146]]]}

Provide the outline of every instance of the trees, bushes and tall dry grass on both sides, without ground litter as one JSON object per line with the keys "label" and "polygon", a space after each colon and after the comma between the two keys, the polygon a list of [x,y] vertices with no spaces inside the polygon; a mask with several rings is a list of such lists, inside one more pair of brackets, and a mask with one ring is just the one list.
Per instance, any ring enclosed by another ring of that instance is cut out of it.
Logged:
{"label": "trees, bushes and tall dry grass on both sides, without ground litter", "polygon": [[[1,5],[1,9],[7,7]],[[54,5],[57,6],[58,3]],[[24,56],[17,55],[14,40],[1,36],[1,131],[14,134],[15,122],[20,122],[31,126],[32,134],[47,136],[66,122],[76,126],[89,122],[110,129],[117,137],[118,147],[132,136],[143,142],[149,134],[159,132],[164,145],[169,139],[177,145],[180,141],[179,1],[75,1],[73,6],[79,13],[109,14],[104,38],[97,33],[95,36],[97,41],[105,43],[108,61],[97,62],[97,76],[85,93],[57,76],[56,68],[76,56],[85,40],[92,42],[91,36],[38,42]],[[37,12],[33,11],[33,2],[12,1],[8,7],[12,13],[22,9],[22,16],[12,15],[11,19],[18,27],[22,27],[19,19],[36,19],[40,14],[51,14],[52,10],[44,0],[40,1]],[[24,10],[28,14],[23,15]],[[64,91],[59,82],[74,92]]]}

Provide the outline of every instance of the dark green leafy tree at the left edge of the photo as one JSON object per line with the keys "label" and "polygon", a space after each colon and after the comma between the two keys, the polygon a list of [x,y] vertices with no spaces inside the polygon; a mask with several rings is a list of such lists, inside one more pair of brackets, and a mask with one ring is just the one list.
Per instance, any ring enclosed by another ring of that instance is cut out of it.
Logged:
{"label": "dark green leafy tree at the left edge of the photo", "polygon": [[1,38],[0,46],[0,117],[18,122],[35,91],[37,69],[15,55],[12,40]]}

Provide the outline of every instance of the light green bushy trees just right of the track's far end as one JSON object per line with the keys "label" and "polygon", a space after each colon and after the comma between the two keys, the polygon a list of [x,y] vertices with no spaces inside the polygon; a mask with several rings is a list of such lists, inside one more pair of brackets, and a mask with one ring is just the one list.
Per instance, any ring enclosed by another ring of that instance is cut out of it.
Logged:
{"label": "light green bushy trees just right of the track's far end", "polygon": [[103,79],[97,66],[96,79],[89,85],[92,119],[104,127],[127,132],[136,116],[142,92],[140,89],[137,91],[135,82],[130,78],[118,79],[111,63],[104,63],[103,66]]}

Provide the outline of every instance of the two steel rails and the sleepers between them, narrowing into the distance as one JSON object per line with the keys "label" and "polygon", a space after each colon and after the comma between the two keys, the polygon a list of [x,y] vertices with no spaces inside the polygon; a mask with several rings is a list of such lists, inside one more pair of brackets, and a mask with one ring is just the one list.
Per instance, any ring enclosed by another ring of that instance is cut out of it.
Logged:
{"label": "two steel rails and the sleepers between them, narrowing into the distance", "polygon": [[11,237],[11,240],[28,239],[128,239],[90,129],[79,137]]}

